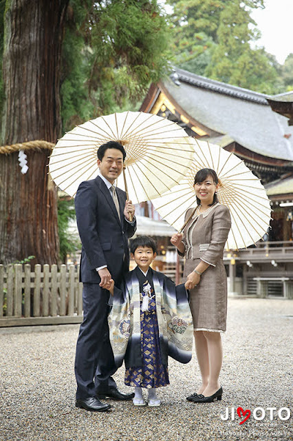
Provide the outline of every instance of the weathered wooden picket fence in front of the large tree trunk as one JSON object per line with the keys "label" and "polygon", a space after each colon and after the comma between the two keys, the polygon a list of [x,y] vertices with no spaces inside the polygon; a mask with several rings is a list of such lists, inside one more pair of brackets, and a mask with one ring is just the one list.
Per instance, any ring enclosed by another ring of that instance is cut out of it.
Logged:
{"label": "weathered wooden picket fence in front of the large tree trunk", "polygon": [[0,265],[0,327],[83,321],[79,268]]}

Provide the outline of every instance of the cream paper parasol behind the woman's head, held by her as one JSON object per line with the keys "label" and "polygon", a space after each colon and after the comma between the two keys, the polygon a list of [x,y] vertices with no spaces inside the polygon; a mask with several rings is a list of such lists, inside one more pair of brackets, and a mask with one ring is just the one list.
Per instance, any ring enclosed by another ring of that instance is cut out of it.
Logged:
{"label": "cream paper parasol behind the woman's head, held by her", "polygon": [[219,202],[230,209],[232,227],[226,249],[246,248],[261,239],[270,225],[270,200],[259,178],[235,154],[219,145],[195,140],[191,170],[179,185],[152,201],[155,209],[178,231],[184,225],[184,215],[196,207],[193,189],[198,170],[211,168],[219,178]]}

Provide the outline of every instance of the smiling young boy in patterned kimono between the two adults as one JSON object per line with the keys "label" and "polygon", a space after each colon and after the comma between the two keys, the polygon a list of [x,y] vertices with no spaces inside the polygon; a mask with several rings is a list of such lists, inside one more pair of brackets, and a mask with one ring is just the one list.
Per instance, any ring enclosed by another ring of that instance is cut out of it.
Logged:
{"label": "smiling young boy in patterned kimono between the two adults", "polygon": [[110,341],[116,365],[124,360],[124,383],[135,389],[133,404],[160,406],[158,387],[169,384],[168,356],[182,363],[191,360],[193,320],[184,285],[175,284],[150,265],[157,256],[155,241],[138,236],[130,245],[138,265],[124,276],[122,289],[114,287],[109,314]]}

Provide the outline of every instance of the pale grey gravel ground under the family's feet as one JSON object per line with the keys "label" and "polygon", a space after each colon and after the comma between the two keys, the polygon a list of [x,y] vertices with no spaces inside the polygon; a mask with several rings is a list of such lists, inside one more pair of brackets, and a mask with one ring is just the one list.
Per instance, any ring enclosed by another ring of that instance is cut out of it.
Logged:
{"label": "pale grey gravel ground under the family's feet", "polygon": [[[199,384],[194,356],[188,365],[170,359],[171,384],[158,392],[161,407],[111,400],[109,413],[74,407],[78,325],[2,328],[0,441],[293,440],[292,318],[292,300],[229,298],[221,401],[186,401]],[[118,387],[130,391],[123,376],[121,368]],[[228,420],[222,420],[227,407]],[[243,424],[238,407],[251,411]],[[265,413],[262,420],[253,416],[257,407],[264,409],[255,414]],[[279,418],[283,407],[290,409],[288,420]]]}

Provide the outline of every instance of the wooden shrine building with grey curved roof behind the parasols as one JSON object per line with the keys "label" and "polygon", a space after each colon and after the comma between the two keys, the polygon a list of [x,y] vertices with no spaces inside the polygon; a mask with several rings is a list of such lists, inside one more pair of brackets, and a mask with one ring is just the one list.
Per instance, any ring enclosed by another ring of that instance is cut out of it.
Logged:
{"label": "wooden shrine building with grey curved roof behind the parasols", "polygon": [[268,96],[176,68],[151,85],[140,111],[233,152],[261,179],[271,229],[256,245],[225,253],[228,290],[293,298],[293,92]]}

